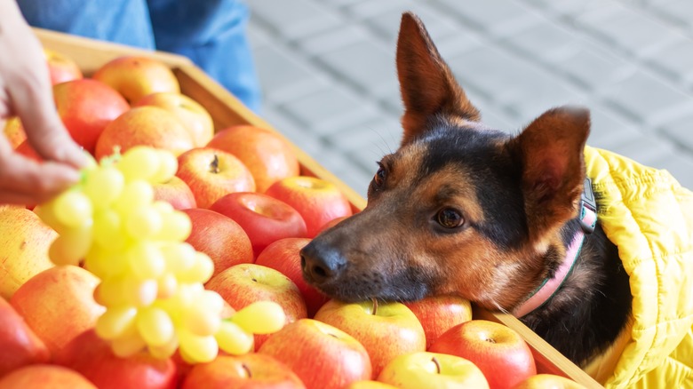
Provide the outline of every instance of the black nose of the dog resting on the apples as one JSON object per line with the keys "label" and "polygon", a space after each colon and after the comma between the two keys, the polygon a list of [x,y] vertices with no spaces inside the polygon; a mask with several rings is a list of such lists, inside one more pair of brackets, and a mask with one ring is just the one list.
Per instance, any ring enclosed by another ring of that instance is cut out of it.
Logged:
{"label": "black nose of the dog resting on the apples", "polygon": [[314,284],[337,278],[346,268],[346,258],[339,250],[320,240],[308,243],[300,255],[303,277]]}

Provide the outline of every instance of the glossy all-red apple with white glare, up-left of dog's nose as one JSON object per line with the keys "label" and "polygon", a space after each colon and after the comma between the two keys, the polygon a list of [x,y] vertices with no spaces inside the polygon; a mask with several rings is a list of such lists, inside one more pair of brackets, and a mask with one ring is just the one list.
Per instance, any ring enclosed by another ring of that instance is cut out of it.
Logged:
{"label": "glossy all-red apple with white glare, up-left of dog's nose", "polygon": [[289,204],[267,194],[238,192],[211,204],[211,210],[233,218],[251,238],[256,255],[284,238],[305,238],[306,223]]}

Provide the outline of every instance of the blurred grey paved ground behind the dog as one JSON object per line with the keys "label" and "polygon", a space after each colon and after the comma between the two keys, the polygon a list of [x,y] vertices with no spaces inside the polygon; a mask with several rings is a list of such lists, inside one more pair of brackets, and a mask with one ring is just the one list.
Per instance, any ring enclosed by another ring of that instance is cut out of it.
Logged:
{"label": "blurred grey paved ground behind the dog", "polygon": [[588,144],[693,188],[693,1],[249,0],[262,116],[355,190],[396,148],[394,43],[417,12],[486,123],[590,107]]}

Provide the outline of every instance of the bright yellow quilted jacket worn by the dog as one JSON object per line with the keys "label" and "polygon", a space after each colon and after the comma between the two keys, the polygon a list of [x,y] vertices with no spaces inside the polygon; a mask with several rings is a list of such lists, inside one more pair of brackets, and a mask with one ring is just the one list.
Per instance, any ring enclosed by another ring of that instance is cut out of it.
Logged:
{"label": "bright yellow quilted jacket worn by the dog", "polygon": [[605,150],[586,147],[585,164],[633,293],[630,334],[591,367],[608,388],[693,388],[693,193]]}

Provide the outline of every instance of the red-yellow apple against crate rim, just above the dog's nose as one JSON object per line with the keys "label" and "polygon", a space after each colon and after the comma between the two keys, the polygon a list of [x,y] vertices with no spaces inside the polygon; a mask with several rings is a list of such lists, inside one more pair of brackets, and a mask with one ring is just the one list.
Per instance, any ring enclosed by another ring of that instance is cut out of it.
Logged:
{"label": "red-yellow apple against crate rim, just above the dog's nose", "polygon": [[352,214],[346,196],[329,181],[297,176],[281,179],[267,188],[266,194],[298,210],[306,221],[308,238],[313,238],[334,218]]}

